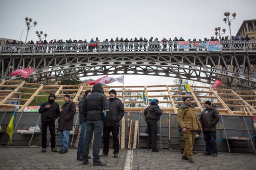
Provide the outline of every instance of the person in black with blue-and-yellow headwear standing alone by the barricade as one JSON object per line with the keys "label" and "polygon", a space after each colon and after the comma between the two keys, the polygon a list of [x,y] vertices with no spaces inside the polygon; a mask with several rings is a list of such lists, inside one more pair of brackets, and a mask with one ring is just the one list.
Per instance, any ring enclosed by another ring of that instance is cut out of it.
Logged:
{"label": "person in black with blue-and-yellow headwear standing alone by the barricade", "polygon": [[162,115],[162,110],[158,106],[159,101],[154,99],[150,106],[144,110],[145,120],[147,122],[148,128],[148,140],[147,140],[147,149],[152,149],[152,152],[158,152],[156,149],[157,143],[157,121],[160,120]]}

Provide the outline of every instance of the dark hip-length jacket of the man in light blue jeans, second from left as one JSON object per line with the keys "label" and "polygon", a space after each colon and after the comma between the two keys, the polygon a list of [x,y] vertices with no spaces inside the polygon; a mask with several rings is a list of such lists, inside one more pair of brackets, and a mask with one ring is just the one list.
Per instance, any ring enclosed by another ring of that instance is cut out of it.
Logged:
{"label": "dark hip-length jacket of the man in light blue jeans, second from left", "polygon": [[66,101],[61,107],[61,115],[59,118],[59,131],[73,130],[74,115],[76,112],[76,106],[73,101]]}

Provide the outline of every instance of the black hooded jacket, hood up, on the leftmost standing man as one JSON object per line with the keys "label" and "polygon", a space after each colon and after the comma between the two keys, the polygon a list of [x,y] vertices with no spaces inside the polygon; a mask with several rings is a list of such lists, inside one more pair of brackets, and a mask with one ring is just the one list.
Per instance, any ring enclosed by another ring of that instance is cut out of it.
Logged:
{"label": "black hooded jacket, hood up, on the leftmost standing man", "polygon": [[[50,97],[56,98],[55,94],[50,94],[48,101],[40,105],[38,112],[41,114],[41,122],[53,121],[60,116],[60,106],[54,101],[50,101]],[[46,108],[46,105],[51,105],[50,108]]]}

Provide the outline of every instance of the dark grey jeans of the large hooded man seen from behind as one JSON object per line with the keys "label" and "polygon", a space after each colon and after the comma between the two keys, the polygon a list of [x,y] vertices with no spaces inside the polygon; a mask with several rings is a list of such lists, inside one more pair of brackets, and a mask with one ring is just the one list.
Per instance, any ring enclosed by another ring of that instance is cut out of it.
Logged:
{"label": "dark grey jeans of the large hooded man seen from behind", "polygon": [[101,148],[101,134],[103,131],[103,121],[102,120],[96,120],[96,121],[87,121],[87,129],[86,129],[86,136],[83,146],[83,153],[82,153],[82,159],[83,162],[88,161],[88,155],[89,155],[89,147],[90,142],[93,136],[94,132],[94,142],[93,142],[93,163],[99,163],[100,162],[100,148]]}

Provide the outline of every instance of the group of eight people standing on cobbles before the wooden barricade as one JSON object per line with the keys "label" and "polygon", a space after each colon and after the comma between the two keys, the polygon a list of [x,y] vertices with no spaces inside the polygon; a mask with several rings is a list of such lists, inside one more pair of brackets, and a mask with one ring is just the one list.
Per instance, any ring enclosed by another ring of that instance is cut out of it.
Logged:
{"label": "group of eight people standing on cobbles before the wooden barricade", "polygon": [[[109,99],[104,94],[100,83],[95,83],[92,90],[87,90],[83,98],[79,101],[79,123],[81,128],[77,160],[83,161],[82,164],[88,164],[89,145],[93,134],[93,165],[104,166],[100,157],[108,156],[110,132],[113,136],[114,157],[119,154],[119,126],[120,120],[124,116],[124,107],[120,99],[116,98],[115,89],[109,92]],[[61,134],[60,154],[67,153],[70,130],[73,129],[74,115],[76,105],[70,100],[68,94],[64,95],[65,104],[61,110],[59,104],[54,102],[56,96],[50,94],[48,101],[40,105],[39,113],[42,122],[42,150],[46,152],[47,148],[47,127],[51,135],[51,151],[57,152],[55,148],[55,120],[58,119],[58,131]],[[147,122],[147,149],[152,152],[157,150],[157,121],[160,120],[162,110],[158,106],[157,99],[152,100],[150,106],[144,110],[145,120]],[[203,132],[206,143],[206,152],[203,155],[217,156],[216,145],[216,124],[219,121],[218,110],[211,106],[210,101],[205,102],[205,109],[201,113],[200,119],[197,118],[195,107],[191,105],[191,98],[184,97],[182,105],[178,108],[178,123],[184,137],[184,148],[182,159],[194,163],[193,145],[196,133]],[[103,132],[103,152],[100,155],[101,134]],[[182,142],[182,141],[181,141]]]}

